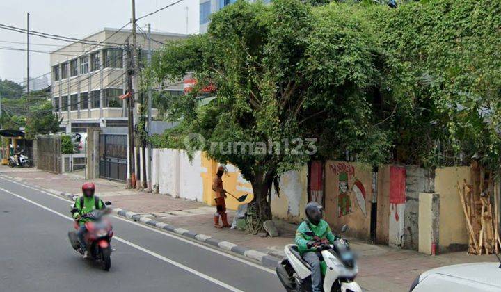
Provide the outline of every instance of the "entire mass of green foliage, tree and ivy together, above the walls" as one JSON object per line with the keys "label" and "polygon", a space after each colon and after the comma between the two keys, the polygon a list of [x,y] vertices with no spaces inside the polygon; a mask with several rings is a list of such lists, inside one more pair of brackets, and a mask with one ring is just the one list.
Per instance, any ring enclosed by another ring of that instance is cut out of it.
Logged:
{"label": "entire mass of green foliage, tree and ivy together, above the walls", "polygon": [[[212,142],[312,137],[317,158],[433,167],[478,157],[498,169],[501,2],[353,2],[237,1],[212,15],[208,33],[166,44],[151,82],[191,73],[198,83],[168,99],[163,111],[182,125],[154,139],[184,147],[201,133],[209,156],[237,165],[260,204],[271,181],[312,157],[225,154]],[[209,85],[217,98],[200,106]]]}

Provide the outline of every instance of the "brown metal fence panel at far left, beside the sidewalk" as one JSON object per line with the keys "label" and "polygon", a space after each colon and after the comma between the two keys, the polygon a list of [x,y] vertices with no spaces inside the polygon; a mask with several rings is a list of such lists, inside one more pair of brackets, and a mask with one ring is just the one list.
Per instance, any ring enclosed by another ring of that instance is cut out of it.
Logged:
{"label": "brown metal fence panel at far left, beside the sidewalk", "polygon": [[36,155],[38,169],[61,173],[61,136],[38,136]]}

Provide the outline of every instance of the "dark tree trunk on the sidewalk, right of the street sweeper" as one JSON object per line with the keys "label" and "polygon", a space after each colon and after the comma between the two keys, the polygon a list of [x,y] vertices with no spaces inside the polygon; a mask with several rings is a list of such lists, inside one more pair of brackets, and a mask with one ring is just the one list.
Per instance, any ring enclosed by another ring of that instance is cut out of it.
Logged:
{"label": "dark tree trunk on the sidewalk, right of the street sweeper", "polygon": [[258,172],[255,174],[254,181],[251,181],[253,187],[254,200],[257,204],[257,211],[259,212],[262,221],[271,220],[271,202],[269,201],[269,192],[273,177],[271,172]]}

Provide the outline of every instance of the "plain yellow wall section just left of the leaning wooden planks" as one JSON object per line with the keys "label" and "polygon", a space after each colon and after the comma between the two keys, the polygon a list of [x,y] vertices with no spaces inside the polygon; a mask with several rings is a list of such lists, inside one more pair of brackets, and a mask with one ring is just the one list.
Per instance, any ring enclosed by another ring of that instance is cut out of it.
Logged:
{"label": "plain yellow wall section just left of the leaning wooden planks", "polygon": [[466,179],[471,181],[469,166],[437,168],[435,170],[435,193],[440,195],[440,222],[438,241],[440,250],[451,244],[468,244],[466,219],[457,194],[456,184]]}

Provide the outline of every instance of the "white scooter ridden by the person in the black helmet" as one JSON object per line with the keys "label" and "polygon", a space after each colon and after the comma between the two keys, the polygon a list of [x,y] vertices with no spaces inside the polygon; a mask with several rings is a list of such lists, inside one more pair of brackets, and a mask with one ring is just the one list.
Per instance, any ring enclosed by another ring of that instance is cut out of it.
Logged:
{"label": "white scooter ridden by the person in the black helmet", "polygon": [[[341,232],[348,229],[343,225]],[[361,292],[362,289],[356,282],[358,273],[355,257],[346,239],[339,238],[333,245],[319,245],[321,259],[326,265],[324,276],[324,291],[326,292]],[[284,249],[286,259],[281,261],[276,273],[285,290],[289,291],[312,291],[310,265],[301,257],[298,247],[289,244]]]}

